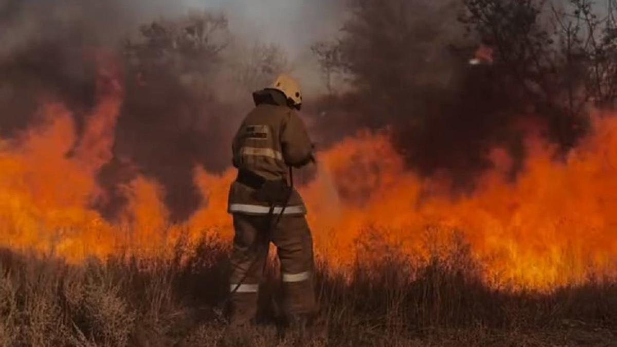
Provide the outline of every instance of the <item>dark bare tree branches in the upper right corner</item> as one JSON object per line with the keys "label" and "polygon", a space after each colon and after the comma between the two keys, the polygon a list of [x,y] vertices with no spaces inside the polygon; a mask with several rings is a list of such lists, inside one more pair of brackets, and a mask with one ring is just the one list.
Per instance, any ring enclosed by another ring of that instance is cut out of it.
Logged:
{"label": "dark bare tree branches in the upper right corner", "polygon": [[[609,4],[612,1],[609,1]],[[615,8],[599,15],[590,0],[463,0],[463,22],[490,44],[495,71],[513,81],[570,146],[584,131],[588,106],[617,99]],[[513,95],[515,96],[515,95]]]}

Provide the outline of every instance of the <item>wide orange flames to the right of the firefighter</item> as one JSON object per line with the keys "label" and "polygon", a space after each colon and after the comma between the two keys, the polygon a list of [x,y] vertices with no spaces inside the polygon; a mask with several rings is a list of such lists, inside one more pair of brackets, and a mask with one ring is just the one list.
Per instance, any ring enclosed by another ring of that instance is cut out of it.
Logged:
{"label": "wide orange flames to the right of the firefighter", "polygon": [[[343,141],[322,156],[341,203],[337,219],[309,216],[318,245],[331,261],[346,264],[358,256],[354,242],[371,228],[405,254],[428,261],[462,233],[493,286],[549,289],[593,276],[614,278],[617,118],[598,118],[595,129],[565,162],[553,159],[550,146],[528,141],[529,156],[515,182],[507,177],[507,154],[495,149],[495,169],[463,198],[405,170],[386,135]],[[305,192],[310,211],[332,204],[320,199],[320,184]]]}

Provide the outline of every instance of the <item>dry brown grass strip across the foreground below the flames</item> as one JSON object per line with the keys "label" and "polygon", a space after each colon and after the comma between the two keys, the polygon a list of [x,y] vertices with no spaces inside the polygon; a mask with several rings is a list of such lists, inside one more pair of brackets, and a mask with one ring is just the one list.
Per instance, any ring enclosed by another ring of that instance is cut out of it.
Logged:
{"label": "dry brown grass strip across the foreground below the flames", "polygon": [[[259,322],[225,330],[228,249],[204,241],[175,259],[117,257],[73,266],[0,253],[0,347],[297,346],[277,337],[276,269]],[[590,281],[550,295],[484,286],[465,248],[418,269],[388,252],[343,277],[320,263],[321,311],[307,346],[617,346],[617,284]]]}

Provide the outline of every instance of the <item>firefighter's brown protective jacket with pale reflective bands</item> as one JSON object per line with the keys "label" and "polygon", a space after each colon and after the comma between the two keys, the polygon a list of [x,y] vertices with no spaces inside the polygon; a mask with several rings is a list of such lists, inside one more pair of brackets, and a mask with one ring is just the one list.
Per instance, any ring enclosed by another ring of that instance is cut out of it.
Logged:
{"label": "firefighter's brown protective jacket with pale reflective bands", "polygon": [[[239,172],[265,180],[286,180],[289,166],[301,167],[313,156],[313,146],[299,115],[288,107],[278,90],[265,89],[253,94],[255,109],[242,122],[233,140],[233,165]],[[291,191],[287,205],[275,206],[274,214],[304,215],[300,194]],[[231,185],[228,212],[266,215],[270,206],[255,198],[255,187],[236,180]]]}

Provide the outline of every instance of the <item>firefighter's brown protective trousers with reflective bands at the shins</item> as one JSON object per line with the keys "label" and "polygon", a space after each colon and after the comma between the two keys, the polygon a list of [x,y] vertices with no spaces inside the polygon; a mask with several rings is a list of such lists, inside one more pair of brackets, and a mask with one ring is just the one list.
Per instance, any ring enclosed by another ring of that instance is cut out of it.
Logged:
{"label": "firefighter's brown protective trousers with reflective bands at the shins", "polygon": [[230,322],[247,324],[257,313],[257,291],[270,242],[277,248],[283,282],[283,309],[289,316],[316,309],[313,285],[313,240],[304,215],[234,214],[231,254]]}

